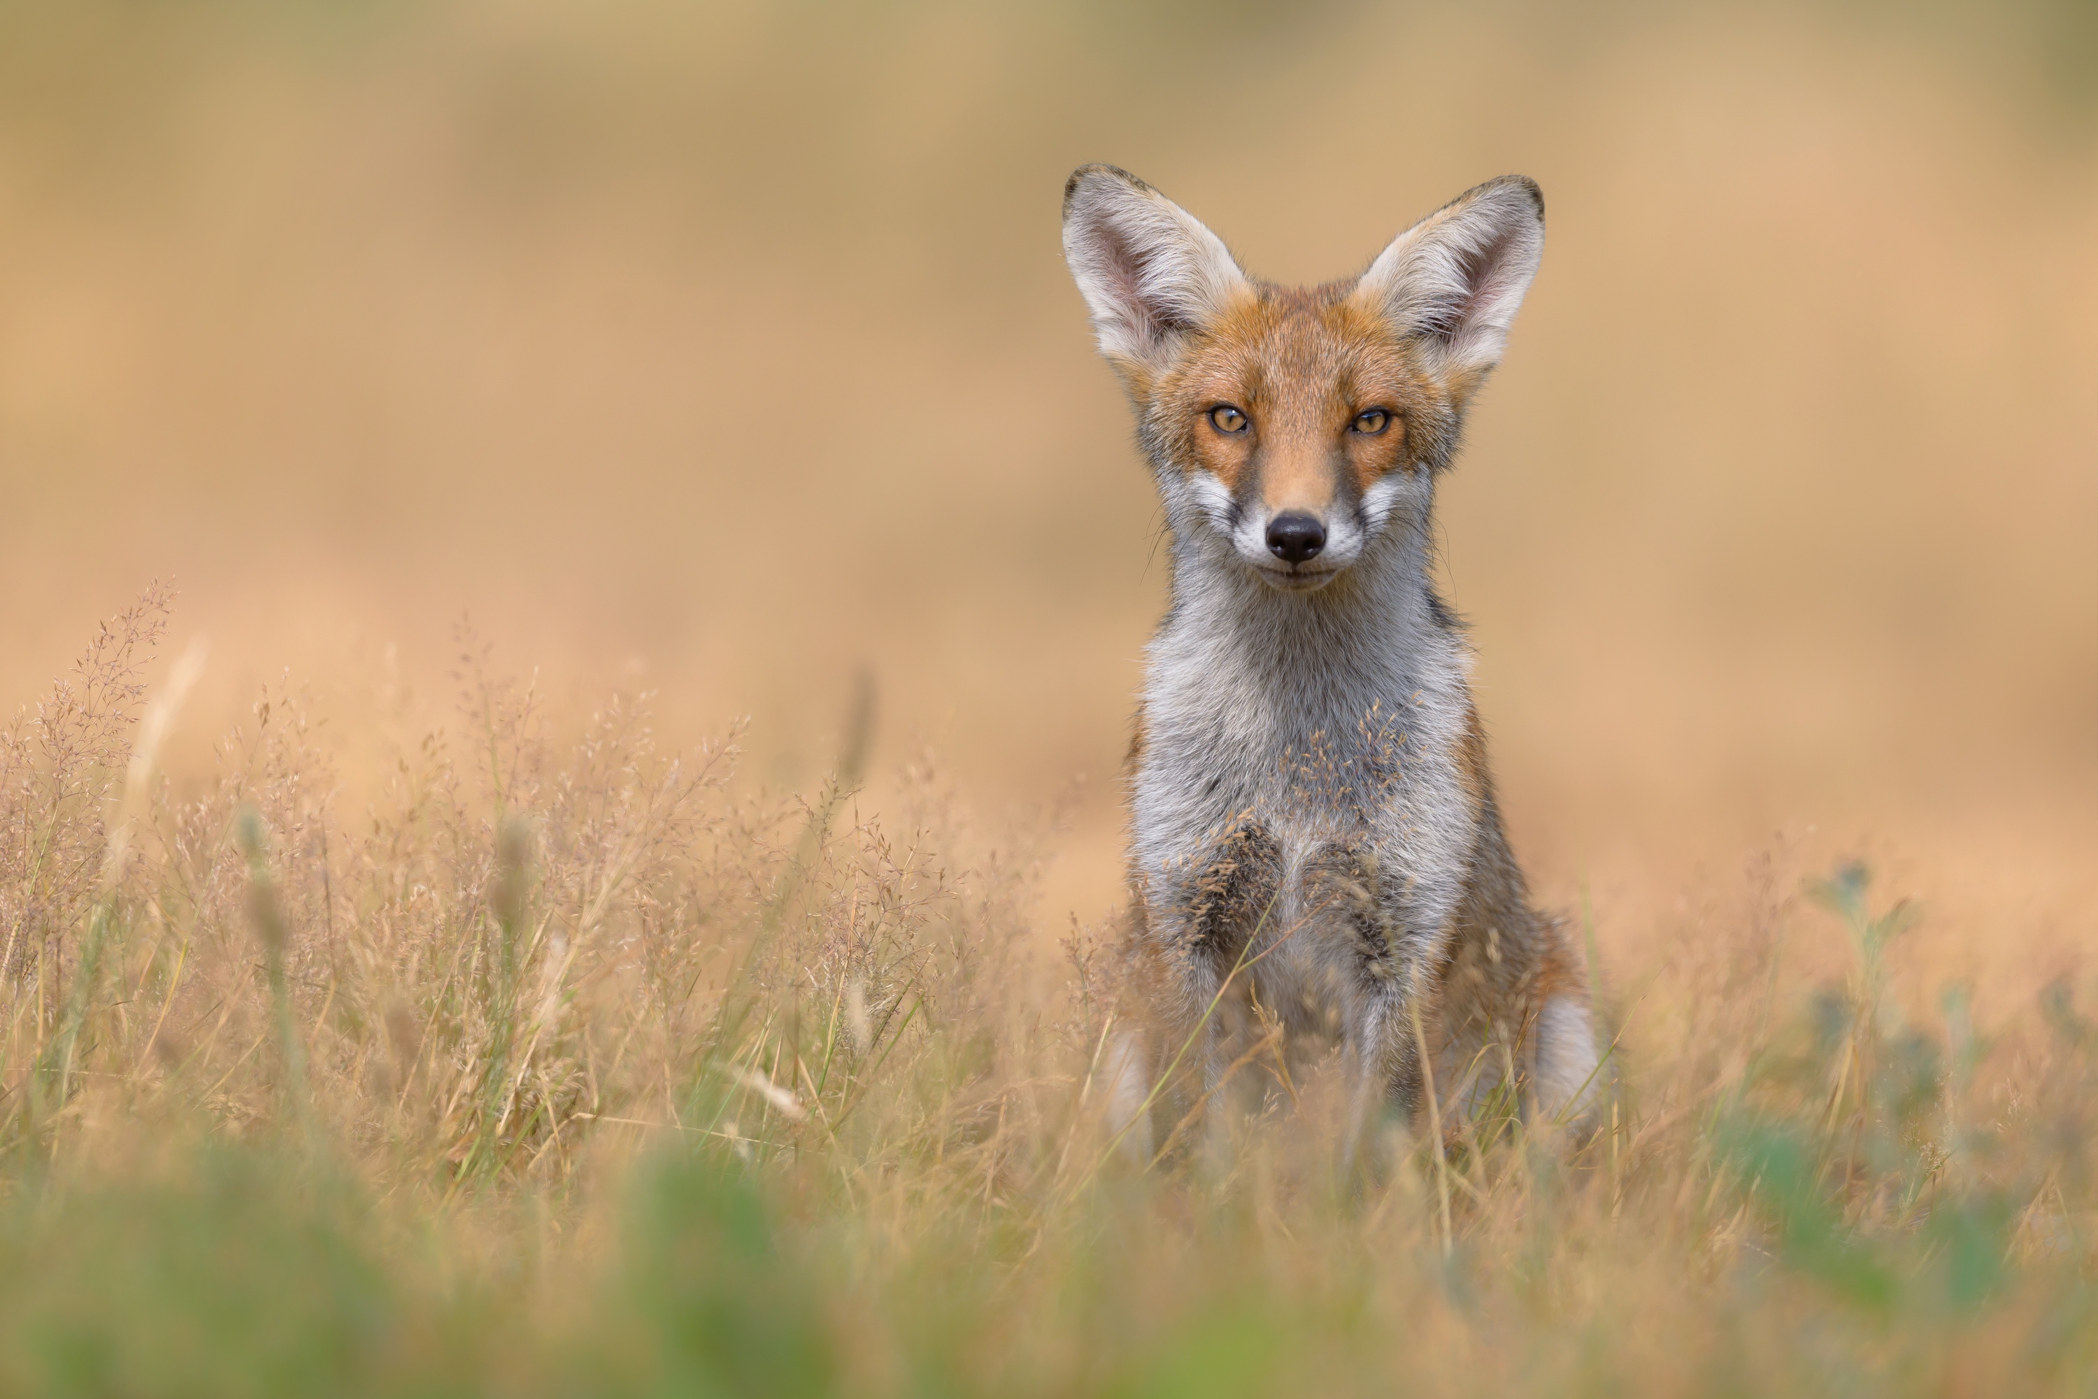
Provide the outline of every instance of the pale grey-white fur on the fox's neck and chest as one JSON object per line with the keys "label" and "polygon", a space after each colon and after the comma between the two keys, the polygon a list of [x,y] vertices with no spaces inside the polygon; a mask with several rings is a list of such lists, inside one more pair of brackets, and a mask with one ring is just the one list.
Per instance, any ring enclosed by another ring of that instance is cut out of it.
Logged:
{"label": "pale grey-white fur on the fox's neck and chest", "polygon": [[1133,854],[1166,910],[1219,839],[1257,822],[1282,858],[1282,917],[1324,845],[1364,841],[1416,935],[1462,891],[1477,797],[1458,761],[1469,724],[1462,640],[1425,579],[1399,571],[1280,594],[1257,579],[1177,579],[1150,646]]}

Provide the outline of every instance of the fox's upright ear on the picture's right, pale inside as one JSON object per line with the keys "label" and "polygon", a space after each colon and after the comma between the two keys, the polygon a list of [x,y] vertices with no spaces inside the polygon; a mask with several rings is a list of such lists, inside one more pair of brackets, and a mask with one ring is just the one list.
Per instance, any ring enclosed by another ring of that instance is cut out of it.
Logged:
{"label": "fox's upright ear on the picture's right, pale inside", "polygon": [[1441,352],[1460,394],[1500,363],[1523,292],[1544,254],[1536,180],[1487,180],[1391,239],[1355,283],[1401,336]]}

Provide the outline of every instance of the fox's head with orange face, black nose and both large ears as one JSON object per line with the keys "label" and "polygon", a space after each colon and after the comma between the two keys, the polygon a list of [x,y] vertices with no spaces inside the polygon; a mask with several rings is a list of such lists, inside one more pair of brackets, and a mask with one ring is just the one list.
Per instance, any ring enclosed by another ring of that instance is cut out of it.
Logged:
{"label": "fox's head with orange face, black nose and both large ears", "polygon": [[1322,287],[1248,277],[1114,166],[1064,187],[1064,258],[1137,409],[1175,537],[1284,591],[1418,535],[1544,250],[1544,197],[1479,185]]}

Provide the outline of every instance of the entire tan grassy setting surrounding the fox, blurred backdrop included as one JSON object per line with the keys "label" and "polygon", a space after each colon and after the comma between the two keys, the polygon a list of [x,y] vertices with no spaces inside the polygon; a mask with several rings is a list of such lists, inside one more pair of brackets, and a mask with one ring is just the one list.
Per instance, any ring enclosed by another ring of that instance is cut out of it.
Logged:
{"label": "entire tan grassy setting surrounding the fox, blurred backdrop included", "polygon": [[[2092,1393],[2094,42],[0,4],[0,1393]],[[1546,191],[1441,512],[1571,1156],[1112,1149],[1087,159]]]}

